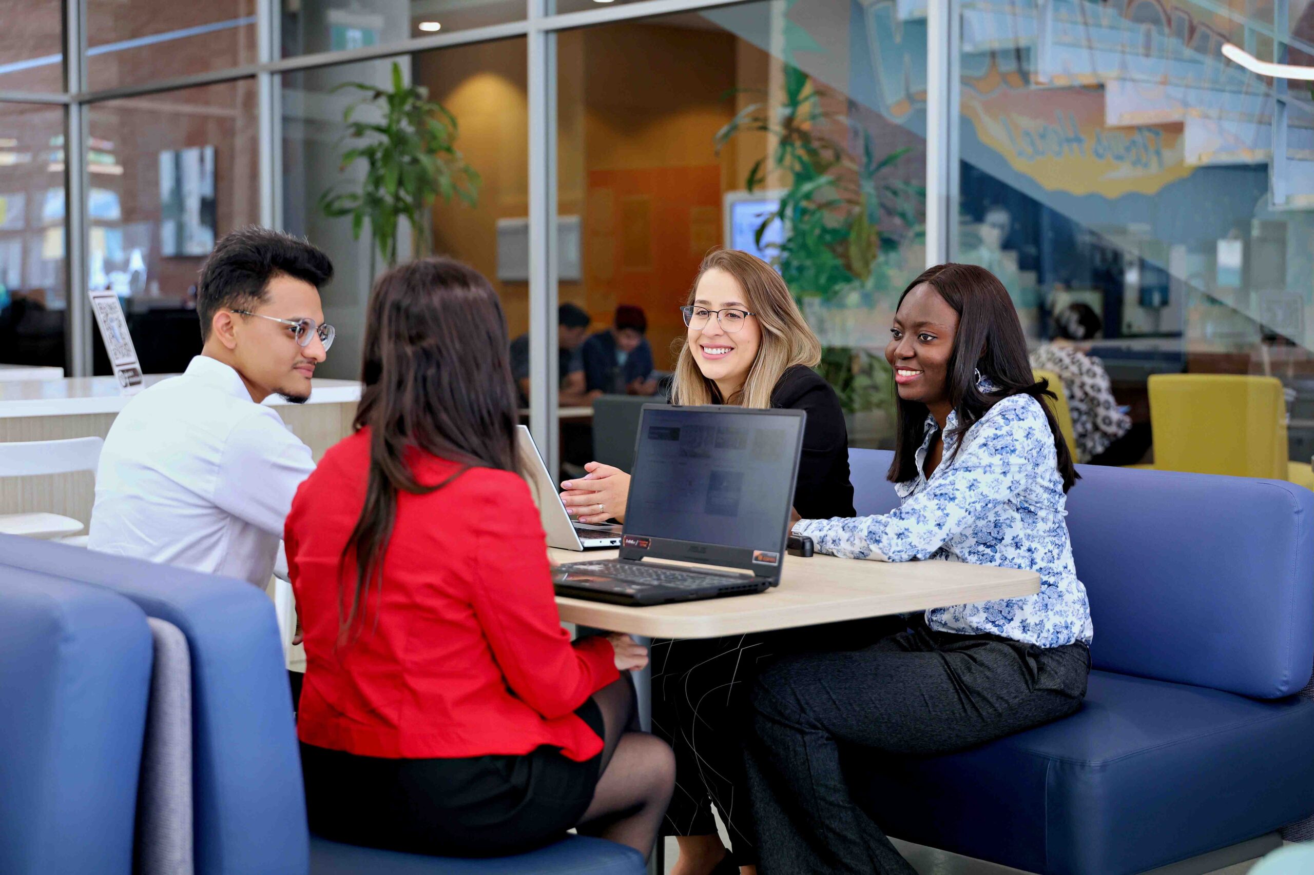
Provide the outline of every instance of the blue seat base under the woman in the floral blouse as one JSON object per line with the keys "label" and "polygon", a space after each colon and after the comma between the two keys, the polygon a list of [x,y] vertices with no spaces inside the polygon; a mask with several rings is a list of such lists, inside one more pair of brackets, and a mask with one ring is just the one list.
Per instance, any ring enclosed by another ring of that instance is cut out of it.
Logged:
{"label": "blue seat base under the woman in the floral blouse", "polygon": [[1130,875],[1314,812],[1314,702],[1092,671],[1071,717],[922,759],[846,753],[888,834],[1046,875]]}

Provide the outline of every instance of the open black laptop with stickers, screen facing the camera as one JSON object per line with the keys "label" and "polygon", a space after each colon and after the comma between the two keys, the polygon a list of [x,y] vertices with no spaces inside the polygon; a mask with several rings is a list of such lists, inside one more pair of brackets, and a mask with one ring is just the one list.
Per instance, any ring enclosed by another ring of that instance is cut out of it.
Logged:
{"label": "open black laptop with stickers, screen facing the camera", "polygon": [[802,410],[645,405],[620,557],[560,566],[557,595],[639,606],[778,585],[804,419]]}

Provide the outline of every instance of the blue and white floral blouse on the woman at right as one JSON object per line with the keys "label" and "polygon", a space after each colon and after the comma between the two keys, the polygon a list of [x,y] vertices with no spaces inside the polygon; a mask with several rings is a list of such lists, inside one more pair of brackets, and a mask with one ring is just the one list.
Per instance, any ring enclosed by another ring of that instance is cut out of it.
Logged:
{"label": "blue and white floral blouse on the woman at right", "polygon": [[[987,392],[987,385],[982,386]],[[895,483],[900,507],[876,516],[802,520],[794,531],[821,553],[890,562],[940,558],[1037,572],[1041,591],[1020,599],[926,611],[941,632],[989,633],[1042,648],[1091,642],[1091,610],[1076,579],[1063,478],[1041,402],[1010,395],[963,436],[953,457],[957,416],[949,414],[943,461],[926,480],[936,434],[917,451],[917,480]]]}

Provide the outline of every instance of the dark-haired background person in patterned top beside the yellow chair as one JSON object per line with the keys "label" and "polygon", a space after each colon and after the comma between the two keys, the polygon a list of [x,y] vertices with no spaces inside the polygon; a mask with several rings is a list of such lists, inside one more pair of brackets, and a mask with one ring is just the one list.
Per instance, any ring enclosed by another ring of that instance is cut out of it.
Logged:
{"label": "dark-haired background person in patterned top beside the yellow chair", "polygon": [[1030,355],[1033,368],[1053,370],[1063,381],[1072,411],[1076,461],[1091,465],[1134,465],[1150,448],[1150,424],[1133,426],[1118,406],[1109,374],[1089,342],[1104,327],[1085,303],[1070,303],[1054,315],[1054,339]]}

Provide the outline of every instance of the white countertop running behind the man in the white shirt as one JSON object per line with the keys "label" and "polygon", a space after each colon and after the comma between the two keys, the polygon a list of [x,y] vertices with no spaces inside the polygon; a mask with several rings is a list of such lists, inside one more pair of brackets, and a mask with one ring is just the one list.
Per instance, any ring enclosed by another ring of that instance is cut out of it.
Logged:
{"label": "white countertop running behind the man in the white shirt", "polygon": [[[173,374],[148,374],[146,385],[167,380]],[[360,384],[355,380],[315,380],[306,405],[342,405],[360,401]],[[118,392],[114,377],[70,377],[67,380],[0,380],[0,419],[28,416],[76,416],[85,414],[117,414],[131,395]],[[284,406],[283,398],[265,401],[271,406]]]}

